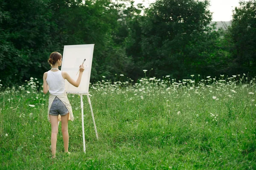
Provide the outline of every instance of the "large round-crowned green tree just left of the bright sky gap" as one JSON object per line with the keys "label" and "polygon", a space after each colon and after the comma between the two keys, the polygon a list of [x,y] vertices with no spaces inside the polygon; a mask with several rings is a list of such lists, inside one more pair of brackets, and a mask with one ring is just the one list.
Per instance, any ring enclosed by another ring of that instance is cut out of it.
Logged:
{"label": "large round-crowned green tree just left of the bright sky gap", "polygon": [[134,27],[139,34],[130,39],[130,44],[139,42],[140,52],[133,52],[133,45],[127,50],[135,57],[137,68],[153,68],[155,76],[186,76],[188,45],[197,39],[194,35],[204,33],[212,19],[208,6],[208,0],[158,0],[152,4],[138,20],[140,28]]}

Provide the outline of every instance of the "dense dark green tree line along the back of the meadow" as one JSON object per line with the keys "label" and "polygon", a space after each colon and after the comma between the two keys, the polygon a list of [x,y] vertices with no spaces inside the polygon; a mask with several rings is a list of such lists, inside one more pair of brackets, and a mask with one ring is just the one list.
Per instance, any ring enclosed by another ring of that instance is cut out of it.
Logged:
{"label": "dense dark green tree line along the back of the meadow", "polygon": [[256,0],[240,2],[231,26],[209,25],[209,0],[0,0],[2,84],[41,79],[52,51],[95,44],[91,81],[102,76],[175,79],[256,73]]}

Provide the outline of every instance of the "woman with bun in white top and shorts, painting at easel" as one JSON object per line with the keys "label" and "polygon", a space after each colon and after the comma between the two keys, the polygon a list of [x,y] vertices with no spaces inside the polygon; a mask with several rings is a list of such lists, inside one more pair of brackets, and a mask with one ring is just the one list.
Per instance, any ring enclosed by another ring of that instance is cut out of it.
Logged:
{"label": "woman with bun in white top and shorts, painting at easel", "polygon": [[58,52],[53,52],[49,57],[49,64],[52,69],[44,73],[44,94],[47,94],[49,90],[49,106],[48,106],[48,120],[52,125],[51,146],[52,146],[52,158],[55,158],[56,143],[58,134],[58,121],[61,121],[61,131],[63,135],[64,150],[68,152],[68,120],[74,119],[72,108],[67,94],[65,92],[65,79],[70,84],[78,87],[81,82],[81,77],[84,71],[84,66],[79,67],[79,77],[77,80],[73,80],[67,72],[60,71],[58,66],[61,66],[62,56]]}

